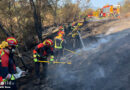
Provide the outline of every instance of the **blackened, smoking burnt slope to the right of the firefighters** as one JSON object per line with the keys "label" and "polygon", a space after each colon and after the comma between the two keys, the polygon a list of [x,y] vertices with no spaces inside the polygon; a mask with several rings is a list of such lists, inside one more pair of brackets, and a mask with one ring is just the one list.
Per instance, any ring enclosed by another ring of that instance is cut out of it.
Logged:
{"label": "blackened, smoking burnt slope to the right of the firefighters", "polygon": [[[84,39],[86,48],[67,54],[71,65],[49,64],[48,78],[34,85],[32,75],[20,90],[130,90],[130,29]],[[34,69],[34,68],[32,68]]]}

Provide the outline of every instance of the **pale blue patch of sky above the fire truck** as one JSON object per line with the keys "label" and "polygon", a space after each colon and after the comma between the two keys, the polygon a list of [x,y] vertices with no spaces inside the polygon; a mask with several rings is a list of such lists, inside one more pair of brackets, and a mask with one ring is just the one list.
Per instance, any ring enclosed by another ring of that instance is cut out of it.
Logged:
{"label": "pale blue patch of sky above the fire truck", "polygon": [[119,2],[123,3],[124,0],[91,0],[90,5],[92,8],[102,8],[103,6],[117,5]]}

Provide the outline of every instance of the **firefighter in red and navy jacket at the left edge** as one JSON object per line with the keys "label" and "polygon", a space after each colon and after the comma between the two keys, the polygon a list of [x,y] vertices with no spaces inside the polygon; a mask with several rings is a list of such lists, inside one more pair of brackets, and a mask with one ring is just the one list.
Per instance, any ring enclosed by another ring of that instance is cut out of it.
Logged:
{"label": "firefighter in red and navy jacket at the left edge", "polygon": [[16,79],[25,75],[25,71],[16,67],[14,63],[13,55],[17,44],[17,40],[13,37],[0,44],[0,84],[8,86],[9,90],[17,90]]}

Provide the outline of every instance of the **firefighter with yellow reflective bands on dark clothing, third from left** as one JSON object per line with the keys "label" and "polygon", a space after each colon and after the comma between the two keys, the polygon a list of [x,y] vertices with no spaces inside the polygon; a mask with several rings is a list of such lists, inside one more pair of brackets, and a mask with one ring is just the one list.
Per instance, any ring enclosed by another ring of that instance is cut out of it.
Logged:
{"label": "firefighter with yellow reflective bands on dark clothing, third from left", "polygon": [[60,57],[63,56],[63,35],[64,28],[62,26],[59,27],[58,35],[55,37],[55,57],[56,60],[60,60]]}

